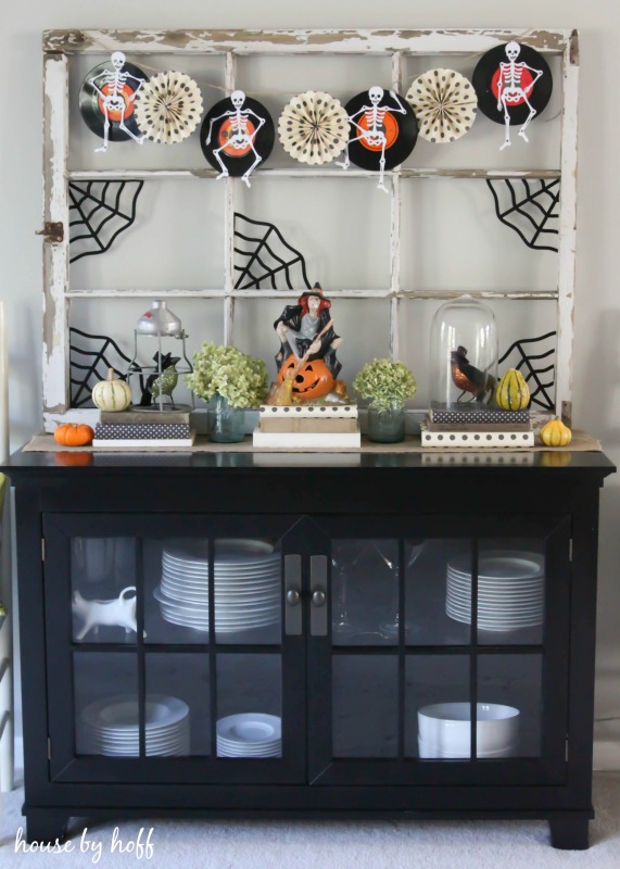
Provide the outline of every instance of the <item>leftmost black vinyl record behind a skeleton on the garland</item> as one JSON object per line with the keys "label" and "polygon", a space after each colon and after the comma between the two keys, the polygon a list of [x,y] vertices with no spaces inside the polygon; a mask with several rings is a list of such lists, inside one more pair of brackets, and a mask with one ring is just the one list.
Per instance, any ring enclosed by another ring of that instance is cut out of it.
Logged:
{"label": "leftmost black vinyl record behind a skeleton on the garland", "polygon": [[[109,73],[107,76],[102,75],[103,73]],[[114,66],[112,61],[106,61],[105,63],[100,63],[99,66],[94,66],[88,75],[85,77],[84,81],[81,83],[81,88],[79,91],[79,112],[87,125],[87,127],[94,133],[96,136],[100,138],[104,138],[104,124],[105,124],[105,110],[103,104],[103,98],[101,95],[96,90],[94,85],[91,84],[93,78],[97,78],[94,83],[99,90],[103,93],[111,96],[112,93],[112,86],[111,79],[114,77]],[[126,81],[123,85],[121,93],[118,96],[118,101],[115,102],[107,111],[107,116],[110,121],[110,129],[107,131],[107,139],[111,142],[124,142],[127,139],[131,139],[132,137],[129,133],[126,133],[124,129],[121,128],[121,121],[123,118],[123,105],[125,109],[125,116],[124,122],[127,129],[134,134],[134,136],[141,136],[141,131],[138,128],[138,124],[136,121],[136,113],[135,113],[135,101],[131,98],[131,95],[138,89],[139,81],[136,79],[142,79],[147,81],[149,76],[140,70],[139,66],[135,66],[132,63],[128,63],[125,61],[121,68],[121,73],[124,75],[125,73],[128,74]],[[107,80],[106,80],[107,79]],[[119,100],[123,100],[121,102]]]}

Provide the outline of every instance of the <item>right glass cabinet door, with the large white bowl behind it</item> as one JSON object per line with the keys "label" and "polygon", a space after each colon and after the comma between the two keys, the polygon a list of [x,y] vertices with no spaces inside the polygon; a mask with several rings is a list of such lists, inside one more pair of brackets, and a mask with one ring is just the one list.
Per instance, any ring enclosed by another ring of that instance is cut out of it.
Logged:
{"label": "right glass cabinet door, with the large white bowl behind it", "polygon": [[446,516],[441,534],[429,519],[384,525],[368,521],[365,537],[330,522],[330,629],[309,637],[309,660],[329,673],[313,780],[559,780],[568,520]]}

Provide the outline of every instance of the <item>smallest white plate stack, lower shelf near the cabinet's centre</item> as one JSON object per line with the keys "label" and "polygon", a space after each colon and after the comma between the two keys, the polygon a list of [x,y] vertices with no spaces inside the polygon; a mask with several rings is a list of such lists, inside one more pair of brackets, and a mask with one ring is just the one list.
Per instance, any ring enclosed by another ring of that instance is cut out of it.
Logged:
{"label": "smallest white plate stack, lower shelf near the cabinet's centre", "polygon": [[282,719],[263,713],[240,713],[217,722],[218,757],[281,757]]}

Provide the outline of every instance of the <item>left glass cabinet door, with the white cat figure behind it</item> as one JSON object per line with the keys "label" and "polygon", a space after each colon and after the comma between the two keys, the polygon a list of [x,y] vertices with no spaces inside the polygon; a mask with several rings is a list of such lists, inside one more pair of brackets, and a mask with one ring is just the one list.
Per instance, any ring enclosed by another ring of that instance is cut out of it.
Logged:
{"label": "left glass cabinet door, with the white cat figure behind it", "polygon": [[299,551],[290,527],[46,517],[56,780],[140,780],[150,758],[170,781],[305,778],[305,725],[289,690],[304,638],[283,620],[287,547]]}

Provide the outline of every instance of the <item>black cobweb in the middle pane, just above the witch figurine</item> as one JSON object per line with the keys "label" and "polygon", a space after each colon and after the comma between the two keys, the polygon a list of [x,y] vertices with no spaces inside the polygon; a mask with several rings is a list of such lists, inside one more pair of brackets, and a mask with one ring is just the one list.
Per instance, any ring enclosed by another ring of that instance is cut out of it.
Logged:
{"label": "black cobweb in the middle pane, just above the witch figurine", "polygon": [[[242,247],[241,247],[242,245]],[[274,224],[235,214],[235,289],[311,289],[306,263]],[[286,287],[283,282],[286,281]],[[279,284],[279,286],[278,286]]]}

